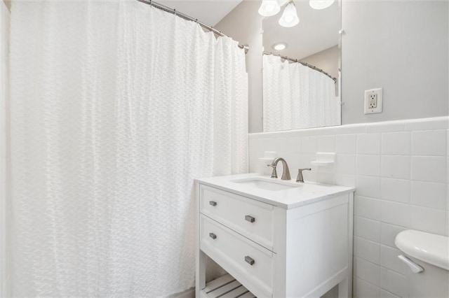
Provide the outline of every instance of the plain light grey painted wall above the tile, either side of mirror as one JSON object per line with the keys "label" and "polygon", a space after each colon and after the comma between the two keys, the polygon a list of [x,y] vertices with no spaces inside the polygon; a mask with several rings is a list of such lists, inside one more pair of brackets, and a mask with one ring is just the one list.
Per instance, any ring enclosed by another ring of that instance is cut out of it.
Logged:
{"label": "plain light grey painted wall above the tile, either side of mirror", "polygon": [[[217,28],[250,44],[250,132],[262,132],[260,1]],[[342,1],[342,124],[448,115],[448,1]],[[384,88],[384,111],[363,114],[363,91]]]}

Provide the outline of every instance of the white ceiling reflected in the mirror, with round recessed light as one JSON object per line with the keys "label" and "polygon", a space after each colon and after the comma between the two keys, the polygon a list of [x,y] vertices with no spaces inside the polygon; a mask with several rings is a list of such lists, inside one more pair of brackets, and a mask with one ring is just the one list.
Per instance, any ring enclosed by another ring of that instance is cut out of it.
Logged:
{"label": "white ceiling reflected in the mirror, with round recessed light", "polygon": [[[294,1],[300,23],[295,27],[281,27],[278,23],[283,9],[277,15],[263,20],[264,50],[275,52],[295,59],[302,59],[316,52],[332,48],[338,44],[340,30],[339,1],[323,10],[315,10],[309,6],[309,1]],[[288,48],[276,51],[274,43],[285,42]]]}

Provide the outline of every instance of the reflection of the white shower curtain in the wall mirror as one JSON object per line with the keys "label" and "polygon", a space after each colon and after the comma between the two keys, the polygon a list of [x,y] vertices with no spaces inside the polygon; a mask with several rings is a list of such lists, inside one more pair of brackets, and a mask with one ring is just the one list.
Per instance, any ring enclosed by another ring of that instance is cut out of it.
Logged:
{"label": "reflection of the white shower curtain in the wall mirror", "polygon": [[340,125],[340,97],[324,73],[263,56],[264,132]]}

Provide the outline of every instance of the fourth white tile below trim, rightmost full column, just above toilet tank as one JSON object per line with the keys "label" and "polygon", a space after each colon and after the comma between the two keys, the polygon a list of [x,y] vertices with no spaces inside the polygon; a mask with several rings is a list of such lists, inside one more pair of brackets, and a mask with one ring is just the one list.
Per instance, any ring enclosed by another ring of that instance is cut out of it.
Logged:
{"label": "fourth white tile below trim, rightmost full column, just above toilet tank", "polygon": [[446,232],[445,217],[446,214],[443,210],[410,206],[410,227],[412,229],[444,235]]}

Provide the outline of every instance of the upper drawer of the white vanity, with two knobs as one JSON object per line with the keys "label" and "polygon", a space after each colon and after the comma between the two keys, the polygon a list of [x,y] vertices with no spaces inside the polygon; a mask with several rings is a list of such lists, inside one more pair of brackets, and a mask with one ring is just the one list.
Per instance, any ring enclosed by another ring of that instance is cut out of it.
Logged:
{"label": "upper drawer of the white vanity, with two knobs", "polygon": [[273,206],[247,197],[200,186],[201,213],[273,250]]}

